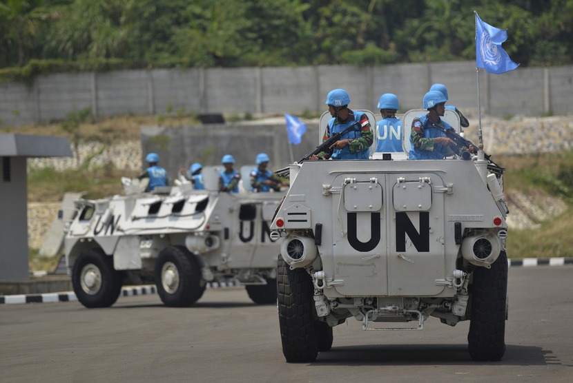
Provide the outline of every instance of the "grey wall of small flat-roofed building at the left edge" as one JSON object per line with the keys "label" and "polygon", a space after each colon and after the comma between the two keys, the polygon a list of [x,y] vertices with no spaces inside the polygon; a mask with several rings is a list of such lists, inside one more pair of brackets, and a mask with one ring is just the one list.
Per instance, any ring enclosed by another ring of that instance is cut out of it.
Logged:
{"label": "grey wall of small flat-roofed building at the left edge", "polygon": [[0,157],[0,280],[28,278],[26,185],[26,157]]}

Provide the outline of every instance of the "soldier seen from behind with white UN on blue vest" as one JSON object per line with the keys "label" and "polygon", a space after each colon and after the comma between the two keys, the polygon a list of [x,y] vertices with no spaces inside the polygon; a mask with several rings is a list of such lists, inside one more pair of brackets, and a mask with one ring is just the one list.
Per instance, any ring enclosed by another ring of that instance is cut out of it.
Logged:
{"label": "soldier seen from behind with white UN on blue vest", "polygon": [[376,123],[376,152],[402,152],[402,121],[396,118],[400,109],[396,94],[382,94],[378,109],[382,120]]}

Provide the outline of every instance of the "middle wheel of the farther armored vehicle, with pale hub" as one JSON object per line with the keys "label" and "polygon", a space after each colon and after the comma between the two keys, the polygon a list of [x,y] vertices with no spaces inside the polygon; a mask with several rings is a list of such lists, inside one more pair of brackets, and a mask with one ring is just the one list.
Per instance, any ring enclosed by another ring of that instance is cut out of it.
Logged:
{"label": "middle wheel of the farther armored vehicle, with pale hub", "polygon": [[201,281],[197,258],[180,246],[166,247],[155,263],[155,285],[166,306],[188,307],[203,295],[206,284]]}

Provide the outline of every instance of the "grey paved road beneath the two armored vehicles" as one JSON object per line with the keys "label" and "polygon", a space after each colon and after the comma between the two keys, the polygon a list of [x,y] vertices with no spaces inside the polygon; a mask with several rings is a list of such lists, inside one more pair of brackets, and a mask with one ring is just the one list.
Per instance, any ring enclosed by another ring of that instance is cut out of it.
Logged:
{"label": "grey paved road beneath the two armored vehicles", "polygon": [[110,309],[79,302],[0,307],[0,382],[572,382],[573,266],[509,269],[507,351],[469,359],[469,324],[424,331],[334,329],[333,349],[287,364],[276,307],[244,289],[206,291],[195,307],[158,296]]}

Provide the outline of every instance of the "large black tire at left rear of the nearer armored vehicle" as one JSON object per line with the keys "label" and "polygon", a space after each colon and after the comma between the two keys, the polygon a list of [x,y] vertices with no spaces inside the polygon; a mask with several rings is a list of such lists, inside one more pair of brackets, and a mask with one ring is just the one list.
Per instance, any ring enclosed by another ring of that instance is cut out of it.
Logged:
{"label": "large black tire at left rear of the nearer armored vehicle", "polygon": [[318,355],[314,288],[304,269],[291,270],[281,256],[277,273],[278,319],[286,362],[314,362]]}

